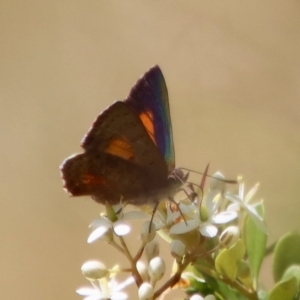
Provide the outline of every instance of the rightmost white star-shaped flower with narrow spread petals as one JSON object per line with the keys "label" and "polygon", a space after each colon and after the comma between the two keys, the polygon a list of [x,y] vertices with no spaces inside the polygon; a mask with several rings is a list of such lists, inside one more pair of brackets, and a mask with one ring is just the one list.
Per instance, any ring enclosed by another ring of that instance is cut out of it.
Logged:
{"label": "rightmost white star-shaped flower with narrow spread petals", "polygon": [[267,228],[265,226],[264,220],[257,213],[255,207],[259,203],[250,204],[253,196],[256,194],[258,190],[259,184],[256,184],[250,191],[244,196],[245,186],[244,183],[239,184],[239,194],[234,195],[232,193],[226,192],[225,197],[231,201],[232,203],[228,206],[228,210],[230,211],[239,211],[241,208],[246,210],[249,217],[253,220],[253,222],[265,233],[267,233]]}

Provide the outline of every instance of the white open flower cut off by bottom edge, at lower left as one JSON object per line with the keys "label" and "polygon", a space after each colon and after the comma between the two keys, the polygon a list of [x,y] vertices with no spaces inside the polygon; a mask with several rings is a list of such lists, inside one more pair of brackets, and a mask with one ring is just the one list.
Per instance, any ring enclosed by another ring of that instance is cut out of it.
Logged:
{"label": "white open flower cut off by bottom edge, at lower left", "polygon": [[93,288],[80,288],[76,292],[84,296],[84,300],[126,300],[128,296],[121,290],[133,282],[133,277],[129,277],[122,284],[117,284],[114,277],[109,281],[107,278],[102,278],[91,281]]}

